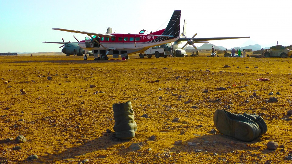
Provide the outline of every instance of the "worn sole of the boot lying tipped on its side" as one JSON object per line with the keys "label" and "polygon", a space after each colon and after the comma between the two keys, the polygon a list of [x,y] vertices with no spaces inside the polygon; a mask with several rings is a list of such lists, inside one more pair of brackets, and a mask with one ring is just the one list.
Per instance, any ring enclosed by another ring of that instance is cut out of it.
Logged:
{"label": "worn sole of the boot lying tipped on its side", "polygon": [[232,120],[223,110],[216,110],[213,117],[217,130],[241,141],[249,142],[256,138],[256,129],[249,122]]}

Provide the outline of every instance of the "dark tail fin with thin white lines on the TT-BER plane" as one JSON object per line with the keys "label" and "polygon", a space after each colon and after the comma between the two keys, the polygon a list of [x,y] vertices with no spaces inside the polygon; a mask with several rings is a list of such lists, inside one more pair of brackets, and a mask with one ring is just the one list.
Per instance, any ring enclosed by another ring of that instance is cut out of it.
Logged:
{"label": "dark tail fin with thin white lines on the TT-BER plane", "polygon": [[162,35],[180,36],[180,10],[175,10]]}

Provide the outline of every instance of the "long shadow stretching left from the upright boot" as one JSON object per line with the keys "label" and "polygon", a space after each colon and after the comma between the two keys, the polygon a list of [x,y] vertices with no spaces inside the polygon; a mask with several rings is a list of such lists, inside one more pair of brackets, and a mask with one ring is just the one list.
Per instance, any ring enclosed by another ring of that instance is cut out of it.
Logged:
{"label": "long shadow stretching left from the upright boot", "polygon": [[120,144],[122,142],[128,142],[129,140],[122,140],[116,138],[115,133],[104,133],[105,136],[95,138],[88,142],[84,142],[81,145],[71,147],[63,152],[56,152],[48,155],[40,156],[40,161],[43,162],[52,162],[52,161],[60,161],[64,159],[75,158],[76,156],[87,154],[90,152],[95,152],[98,150],[106,150],[107,148]]}

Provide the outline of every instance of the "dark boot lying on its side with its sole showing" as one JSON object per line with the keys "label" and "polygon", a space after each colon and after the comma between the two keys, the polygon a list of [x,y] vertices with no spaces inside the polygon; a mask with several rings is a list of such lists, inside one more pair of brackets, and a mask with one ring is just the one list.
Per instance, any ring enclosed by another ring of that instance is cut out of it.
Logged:
{"label": "dark boot lying on its side with its sole showing", "polygon": [[245,142],[252,141],[267,132],[266,122],[259,115],[234,114],[217,109],[213,121],[220,133]]}

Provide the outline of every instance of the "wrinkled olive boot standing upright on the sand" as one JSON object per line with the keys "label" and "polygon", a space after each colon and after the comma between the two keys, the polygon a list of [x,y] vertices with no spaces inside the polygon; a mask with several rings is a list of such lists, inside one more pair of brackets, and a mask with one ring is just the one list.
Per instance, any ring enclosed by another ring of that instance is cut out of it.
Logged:
{"label": "wrinkled olive boot standing upright on the sand", "polygon": [[113,130],[115,130],[117,138],[131,139],[135,137],[137,124],[134,121],[131,101],[113,104],[113,117],[116,121]]}

